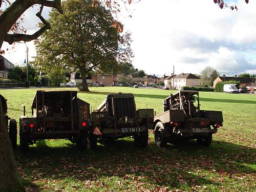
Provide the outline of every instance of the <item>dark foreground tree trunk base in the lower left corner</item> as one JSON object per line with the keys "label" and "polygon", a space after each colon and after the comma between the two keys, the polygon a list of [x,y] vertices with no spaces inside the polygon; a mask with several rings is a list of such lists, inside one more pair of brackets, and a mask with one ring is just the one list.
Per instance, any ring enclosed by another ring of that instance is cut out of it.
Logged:
{"label": "dark foreground tree trunk base in the lower left corner", "polygon": [[26,191],[18,175],[1,99],[0,146],[0,191]]}

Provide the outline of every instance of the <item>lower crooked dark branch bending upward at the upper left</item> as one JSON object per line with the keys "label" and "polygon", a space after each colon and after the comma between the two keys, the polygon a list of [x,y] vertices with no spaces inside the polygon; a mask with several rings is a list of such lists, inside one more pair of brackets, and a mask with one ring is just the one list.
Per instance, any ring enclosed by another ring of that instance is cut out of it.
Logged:
{"label": "lower crooked dark branch bending upward at the upper left", "polygon": [[50,24],[45,20],[44,17],[41,16],[41,12],[44,6],[41,6],[40,11],[36,13],[36,16],[41,20],[41,22],[44,24],[42,28],[40,28],[38,31],[36,31],[32,35],[26,35],[26,34],[7,34],[4,38],[4,41],[8,42],[10,45],[13,44],[13,42],[16,41],[31,41],[36,38],[38,38],[42,33],[44,33],[46,30],[51,29]]}

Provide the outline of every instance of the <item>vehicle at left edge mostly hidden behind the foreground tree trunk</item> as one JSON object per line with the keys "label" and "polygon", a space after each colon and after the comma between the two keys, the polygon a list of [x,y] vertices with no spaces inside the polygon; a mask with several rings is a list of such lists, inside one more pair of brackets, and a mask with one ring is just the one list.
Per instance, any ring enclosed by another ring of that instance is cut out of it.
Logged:
{"label": "vehicle at left edge mostly hidden behind the foreground tree trunk", "polygon": [[[3,95],[0,95],[0,99],[2,101],[3,112],[6,120],[6,125],[9,130],[9,137],[11,140],[11,144],[12,144],[12,147],[15,148],[17,146],[17,122],[15,119],[11,119],[7,114],[8,107],[6,102],[7,100],[5,99],[5,97]],[[10,120],[9,123],[8,123],[8,120]]]}

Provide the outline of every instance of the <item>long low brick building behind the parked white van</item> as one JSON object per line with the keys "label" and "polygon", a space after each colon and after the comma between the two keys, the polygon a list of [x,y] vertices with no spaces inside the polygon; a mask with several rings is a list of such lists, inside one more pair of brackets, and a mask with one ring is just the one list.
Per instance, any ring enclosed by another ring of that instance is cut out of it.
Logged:
{"label": "long low brick building behind the parked white van", "polygon": [[255,81],[251,77],[226,77],[226,76],[219,76],[214,80],[214,88],[216,87],[217,82],[223,81],[239,81],[239,87],[246,87],[246,86],[255,86]]}

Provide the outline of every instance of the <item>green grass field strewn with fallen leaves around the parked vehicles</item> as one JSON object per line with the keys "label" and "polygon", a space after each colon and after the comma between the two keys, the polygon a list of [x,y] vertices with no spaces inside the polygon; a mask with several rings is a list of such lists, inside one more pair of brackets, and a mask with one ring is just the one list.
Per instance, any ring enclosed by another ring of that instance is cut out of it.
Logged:
{"label": "green grass field strewn with fallen leaves around the parked vehicles", "polygon": [[[59,89],[54,89],[59,90]],[[63,90],[63,89],[61,89]],[[73,88],[69,90],[75,90]],[[170,92],[159,89],[91,88],[78,97],[96,109],[109,93],[133,93],[137,108],[162,111]],[[1,90],[8,115],[30,114],[36,89]],[[173,92],[174,93],[174,92]],[[79,151],[66,140],[44,140],[27,154],[17,149],[18,170],[28,191],[255,191],[256,95],[200,92],[201,109],[223,112],[223,127],[203,147],[196,141],[159,148],[153,133],[147,148],[133,139]]]}

